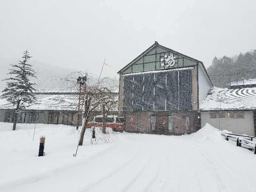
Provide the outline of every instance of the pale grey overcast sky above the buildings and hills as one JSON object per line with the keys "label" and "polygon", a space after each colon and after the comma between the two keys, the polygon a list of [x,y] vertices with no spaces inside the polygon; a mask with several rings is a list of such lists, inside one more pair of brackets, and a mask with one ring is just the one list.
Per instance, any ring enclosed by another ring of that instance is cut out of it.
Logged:
{"label": "pale grey overcast sky above the buildings and hills", "polygon": [[203,61],[256,49],[256,1],[0,0],[0,59],[116,72],[157,41]]}

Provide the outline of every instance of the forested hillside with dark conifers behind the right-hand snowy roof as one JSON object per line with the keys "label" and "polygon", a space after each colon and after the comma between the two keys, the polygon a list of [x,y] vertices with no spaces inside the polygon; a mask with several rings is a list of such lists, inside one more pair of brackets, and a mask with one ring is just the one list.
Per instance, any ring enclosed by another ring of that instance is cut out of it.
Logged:
{"label": "forested hillside with dark conifers behind the right-hand snowy roof", "polygon": [[222,88],[228,87],[230,81],[256,78],[256,50],[240,53],[236,60],[227,56],[214,57],[207,72],[214,86]]}

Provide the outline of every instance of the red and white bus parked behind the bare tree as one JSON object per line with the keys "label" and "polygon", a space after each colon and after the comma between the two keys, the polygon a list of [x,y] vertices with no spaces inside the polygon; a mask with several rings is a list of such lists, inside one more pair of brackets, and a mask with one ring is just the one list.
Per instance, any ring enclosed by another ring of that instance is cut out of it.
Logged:
{"label": "red and white bus parked behind the bare tree", "polygon": [[[88,122],[87,128],[102,127],[102,115],[93,117],[91,122]],[[115,115],[108,115],[106,118],[106,127],[111,128],[113,131],[124,131],[124,118]]]}

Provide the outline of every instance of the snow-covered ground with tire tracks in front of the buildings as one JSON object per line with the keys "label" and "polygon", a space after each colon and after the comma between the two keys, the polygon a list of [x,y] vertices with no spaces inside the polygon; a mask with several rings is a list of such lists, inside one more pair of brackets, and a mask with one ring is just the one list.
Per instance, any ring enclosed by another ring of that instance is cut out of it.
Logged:
{"label": "snow-covered ground with tire tracks in front of the buildings", "polygon": [[[118,133],[90,145],[67,125],[0,123],[0,191],[256,191],[256,155],[207,124],[191,135]],[[39,137],[45,153],[38,157]]]}

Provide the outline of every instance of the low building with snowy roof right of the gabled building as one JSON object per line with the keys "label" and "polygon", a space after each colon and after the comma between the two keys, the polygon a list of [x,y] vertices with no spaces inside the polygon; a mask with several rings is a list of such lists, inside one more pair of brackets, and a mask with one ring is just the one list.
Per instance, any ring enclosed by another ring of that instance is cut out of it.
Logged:
{"label": "low building with snowy roof right of the gabled building", "polygon": [[206,123],[236,134],[256,136],[256,87],[213,87],[202,104],[201,126]]}

